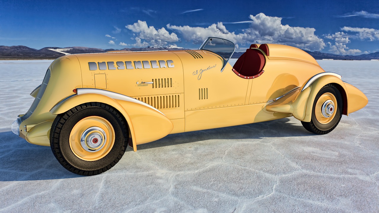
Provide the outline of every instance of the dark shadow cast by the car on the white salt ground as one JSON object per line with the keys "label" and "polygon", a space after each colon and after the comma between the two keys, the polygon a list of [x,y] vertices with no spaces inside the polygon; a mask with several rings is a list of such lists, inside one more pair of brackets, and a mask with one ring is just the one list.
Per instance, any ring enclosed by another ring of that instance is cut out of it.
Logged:
{"label": "dark shadow cast by the car on the white salt ground", "polygon": [[[138,150],[193,143],[210,139],[266,139],[313,135],[288,118],[255,124],[168,135],[138,145]],[[225,142],[229,143],[229,142]],[[128,152],[132,149],[128,148]],[[12,132],[0,132],[0,181],[50,180],[82,177],[67,171],[55,159],[50,147],[27,143]]]}

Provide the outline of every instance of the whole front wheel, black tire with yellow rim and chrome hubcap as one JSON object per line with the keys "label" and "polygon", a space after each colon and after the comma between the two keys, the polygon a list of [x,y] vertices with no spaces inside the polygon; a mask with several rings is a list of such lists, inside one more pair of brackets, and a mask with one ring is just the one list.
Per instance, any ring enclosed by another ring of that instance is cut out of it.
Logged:
{"label": "whole front wheel, black tire with yellow rim and chrome hubcap", "polygon": [[104,103],[79,105],[56,116],[50,147],[59,163],[79,175],[96,175],[112,168],[128,144],[127,124]]}

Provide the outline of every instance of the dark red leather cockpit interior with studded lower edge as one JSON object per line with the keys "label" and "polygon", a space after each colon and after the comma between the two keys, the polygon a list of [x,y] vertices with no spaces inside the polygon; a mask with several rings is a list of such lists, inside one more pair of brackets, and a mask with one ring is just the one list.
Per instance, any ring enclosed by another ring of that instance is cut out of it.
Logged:
{"label": "dark red leather cockpit interior with studded lower edge", "polygon": [[247,49],[234,64],[233,71],[240,77],[252,78],[263,73],[265,62],[262,52],[257,49]]}

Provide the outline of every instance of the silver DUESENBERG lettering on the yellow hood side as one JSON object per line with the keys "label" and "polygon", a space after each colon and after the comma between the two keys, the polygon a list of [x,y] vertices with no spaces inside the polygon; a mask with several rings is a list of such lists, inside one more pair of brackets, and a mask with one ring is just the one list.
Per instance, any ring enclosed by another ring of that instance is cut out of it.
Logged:
{"label": "silver DUESENBERG lettering on the yellow hood side", "polygon": [[[133,66],[134,65],[134,66]],[[150,69],[150,68],[172,68],[174,61],[158,60],[158,61],[103,61],[88,62],[89,70],[114,70],[114,69]]]}

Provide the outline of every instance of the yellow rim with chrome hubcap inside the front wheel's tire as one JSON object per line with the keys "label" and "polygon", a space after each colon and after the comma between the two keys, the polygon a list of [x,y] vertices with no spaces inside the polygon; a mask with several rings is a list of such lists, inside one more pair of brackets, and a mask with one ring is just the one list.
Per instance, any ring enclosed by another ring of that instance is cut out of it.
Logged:
{"label": "yellow rim with chrome hubcap inside the front wheel's tire", "polygon": [[112,125],[99,116],[81,119],[70,133],[70,148],[76,157],[85,161],[99,160],[113,147],[115,133]]}

